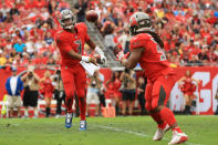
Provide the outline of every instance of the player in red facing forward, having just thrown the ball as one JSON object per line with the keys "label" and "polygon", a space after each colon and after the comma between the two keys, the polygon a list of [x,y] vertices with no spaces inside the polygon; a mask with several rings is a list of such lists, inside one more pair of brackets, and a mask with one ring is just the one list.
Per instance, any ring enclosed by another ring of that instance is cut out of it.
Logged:
{"label": "player in red facing forward, having just thrown the ball", "polygon": [[87,35],[86,25],[84,23],[76,23],[75,15],[71,10],[65,9],[61,11],[60,24],[63,29],[56,33],[55,42],[61,53],[61,76],[66,94],[65,106],[68,113],[65,116],[65,127],[70,128],[72,125],[72,105],[74,94],[76,93],[81,114],[80,131],[85,131],[86,74],[80,62],[96,64],[96,59],[83,55],[84,44],[87,43],[92,50],[100,54],[101,62],[106,62],[106,58],[104,52]]}

